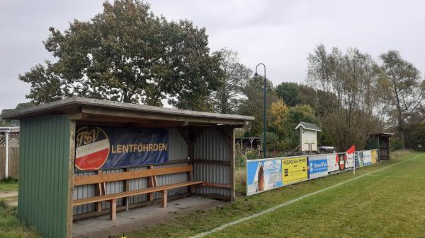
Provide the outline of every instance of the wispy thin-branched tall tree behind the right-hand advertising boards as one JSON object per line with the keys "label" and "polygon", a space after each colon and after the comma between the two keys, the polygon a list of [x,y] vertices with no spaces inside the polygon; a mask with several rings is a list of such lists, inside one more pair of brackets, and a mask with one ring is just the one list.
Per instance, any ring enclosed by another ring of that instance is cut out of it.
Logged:
{"label": "wispy thin-branched tall tree behind the right-hand advertising boards", "polygon": [[324,107],[334,107],[322,117],[324,129],[341,150],[352,143],[361,148],[368,133],[382,129],[374,116],[379,67],[358,49],[343,54],[334,48],[328,54],[322,44],[310,54],[308,62],[311,85],[336,97],[336,104],[334,100],[323,101],[327,104]]}

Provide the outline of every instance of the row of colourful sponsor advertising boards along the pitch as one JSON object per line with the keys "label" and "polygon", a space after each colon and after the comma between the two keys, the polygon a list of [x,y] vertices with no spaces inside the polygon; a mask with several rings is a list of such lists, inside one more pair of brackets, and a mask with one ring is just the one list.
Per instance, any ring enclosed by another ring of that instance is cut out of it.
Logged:
{"label": "row of colourful sponsor advertising boards along the pitch", "polygon": [[307,157],[246,160],[246,196],[343,172],[353,165],[363,167],[379,162],[377,150],[353,150],[354,148],[347,150],[347,153],[308,155]]}

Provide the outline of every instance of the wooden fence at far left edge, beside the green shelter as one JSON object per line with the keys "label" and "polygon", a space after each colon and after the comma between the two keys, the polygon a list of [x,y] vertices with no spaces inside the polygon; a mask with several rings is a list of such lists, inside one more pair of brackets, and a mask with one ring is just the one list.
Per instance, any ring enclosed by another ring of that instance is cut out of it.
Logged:
{"label": "wooden fence at far left edge, beside the green shelter", "polygon": [[[19,135],[10,134],[8,143],[8,176],[18,179],[19,174]],[[6,167],[6,138],[0,134],[0,179],[4,178]]]}

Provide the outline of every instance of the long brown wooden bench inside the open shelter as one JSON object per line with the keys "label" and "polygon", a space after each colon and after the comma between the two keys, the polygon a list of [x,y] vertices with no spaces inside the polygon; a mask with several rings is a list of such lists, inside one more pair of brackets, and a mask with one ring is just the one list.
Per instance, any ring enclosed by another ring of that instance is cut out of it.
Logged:
{"label": "long brown wooden bench inside the open shelter", "polygon": [[[166,184],[162,186],[157,186],[157,176],[166,175],[166,174],[177,174],[182,172],[188,172],[189,180],[188,182],[179,182],[174,184]],[[147,189],[138,189],[133,191],[123,191],[115,194],[106,194],[106,183],[107,182],[117,182],[130,179],[140,179],[148,178],[149,187]],[[162,207],[166,207],[167,203],[167,191],[169,189],[177,189],[183,186],[190,186],[191,191],[194,191],[195,185],[203,185],[203,181],[193,181],[193,165],[183,165],[176,167],[162,167],[154,168],[150,166],[149,169],[141,169],[136,171],[129,172],[118,172],[112,174],[95,174],[88,176],[74,177],[74,186],[89,185],[89,184],[98,184],[98,196],[93,196],[90,198],[80,198],[73,201],[73,206],[82,205],[86,203],[98,203],[98,206],[101,206],[102,201],[108,201],[111,204],[110,217],[111,220],[116,219],[116,210],[117,210],[117,199],[118,198],[128,198],[130,196],[148,194],[149,201],[153,201],[154,193],[162,193]]]}

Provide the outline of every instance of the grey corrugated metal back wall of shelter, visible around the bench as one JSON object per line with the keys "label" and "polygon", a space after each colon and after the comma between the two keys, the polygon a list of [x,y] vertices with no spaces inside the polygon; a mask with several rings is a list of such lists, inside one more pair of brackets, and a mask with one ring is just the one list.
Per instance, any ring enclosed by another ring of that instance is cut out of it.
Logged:
{"label": "grey corrugated metal back wall of shelter, visible around the bench", "polygon": [[[169,161],[183,160],[188,157],[188,146],[186,145],[186,141],[181,137],[179,131],[177,129],[169,129]],[[187,163],[175,164],[175,165],[157,165],[154,167],[172,167],[172,166],[180,166],[187,165]],[[147,169],[147,167],[132,167],[130,171]],[[103,173],[114,173],[114,172],[123,172],[124,169],[107,169],[103,170]],[[76,172],[74,176],[84,176],[95,174],[95,172]],[[188,181],[188,173],[180,173],[180,174],[169,174],[162,175],[157,177],[157,185],[165,185],[165,184],[173,184],[177,182],[186,182]],[[137,189],[146,189],[147,188],[147,178],[142,179],[132,179],[130,180],[130,190]],[[88,198],[91,196],[95,196],[96,186],[95,185],[86,185],[86,186],[76,186],[74,187],[74,199],[77,198]],[[106,192],[107,194],[114,194],[118,192],[124,191],[124,182],[112,182],[106,183]],[[172,196],[175,194],[183,194],[188,192],[187,188],[181,189],[171,189],[168,191],[168,195]],[[160,193],[155,193],[154,198],[161,198]],[[141,203],[143,201],[147,201],[147,195],[138,195],[132,196],[129,199],[129,203]],[[123,206],[124,199],[119,199],[117,201],[118,206]],[[103,202],[102,209],[109,208],[109,203]],[[85,204],[81,206],[74,207],[74,215],[90,213],[95,210],[95,206],[93,203]]]}

